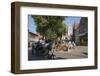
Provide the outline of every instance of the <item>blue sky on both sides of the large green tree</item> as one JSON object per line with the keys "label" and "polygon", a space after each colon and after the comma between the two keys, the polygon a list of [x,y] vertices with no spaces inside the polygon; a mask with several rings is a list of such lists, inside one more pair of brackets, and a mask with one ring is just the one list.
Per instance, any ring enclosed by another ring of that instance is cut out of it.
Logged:
{"label": "blue sky on both sides of the large green tree", "polygon": [[[65,18],[65,24],[72,26],[74,23],[79,23],[81,17],[75,17],[75,16],[68,16]],[[36,33],[36,26],[34,19],[29,15],[28,16],[28,29],[30,32]]]}

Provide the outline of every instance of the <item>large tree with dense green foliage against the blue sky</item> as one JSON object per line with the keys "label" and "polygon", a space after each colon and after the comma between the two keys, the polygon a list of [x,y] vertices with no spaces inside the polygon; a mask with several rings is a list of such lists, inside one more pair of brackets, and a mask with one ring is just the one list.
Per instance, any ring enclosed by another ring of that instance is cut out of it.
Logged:
{"label": "large tree with dense green foliage against the blue sky", "polygon": [[63,16],[32,16],[39,32],[46,39],[57,39],[66,33]]}

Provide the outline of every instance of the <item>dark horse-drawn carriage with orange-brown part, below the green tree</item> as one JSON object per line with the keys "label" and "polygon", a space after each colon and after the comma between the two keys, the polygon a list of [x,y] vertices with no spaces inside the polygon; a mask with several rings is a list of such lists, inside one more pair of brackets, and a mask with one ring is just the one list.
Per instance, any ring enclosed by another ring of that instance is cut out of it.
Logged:
{"label": "dark horse-drawn carriage with orange-brown part, below the green tree", "polygon": [[47,59],[55,58],[55,51],[68,51],[72,48],[71,43],[62,41],[51,41],[51,42],[36,42],[32,43],[32,54],[38,57],[47,57]]}

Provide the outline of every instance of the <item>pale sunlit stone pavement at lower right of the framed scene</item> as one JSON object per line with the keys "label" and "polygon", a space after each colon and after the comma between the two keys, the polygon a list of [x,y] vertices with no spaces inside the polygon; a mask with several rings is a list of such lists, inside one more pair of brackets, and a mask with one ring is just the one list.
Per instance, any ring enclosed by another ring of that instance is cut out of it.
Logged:
{"label": "pale sunlit stone pavement at lower right of the framed scene", "polygon": [[75,59],[75,58],[87,58],[88,48],[87,46],[76,46],[75,48],[69,49],[68,51],[55,51],[56,57]]}

